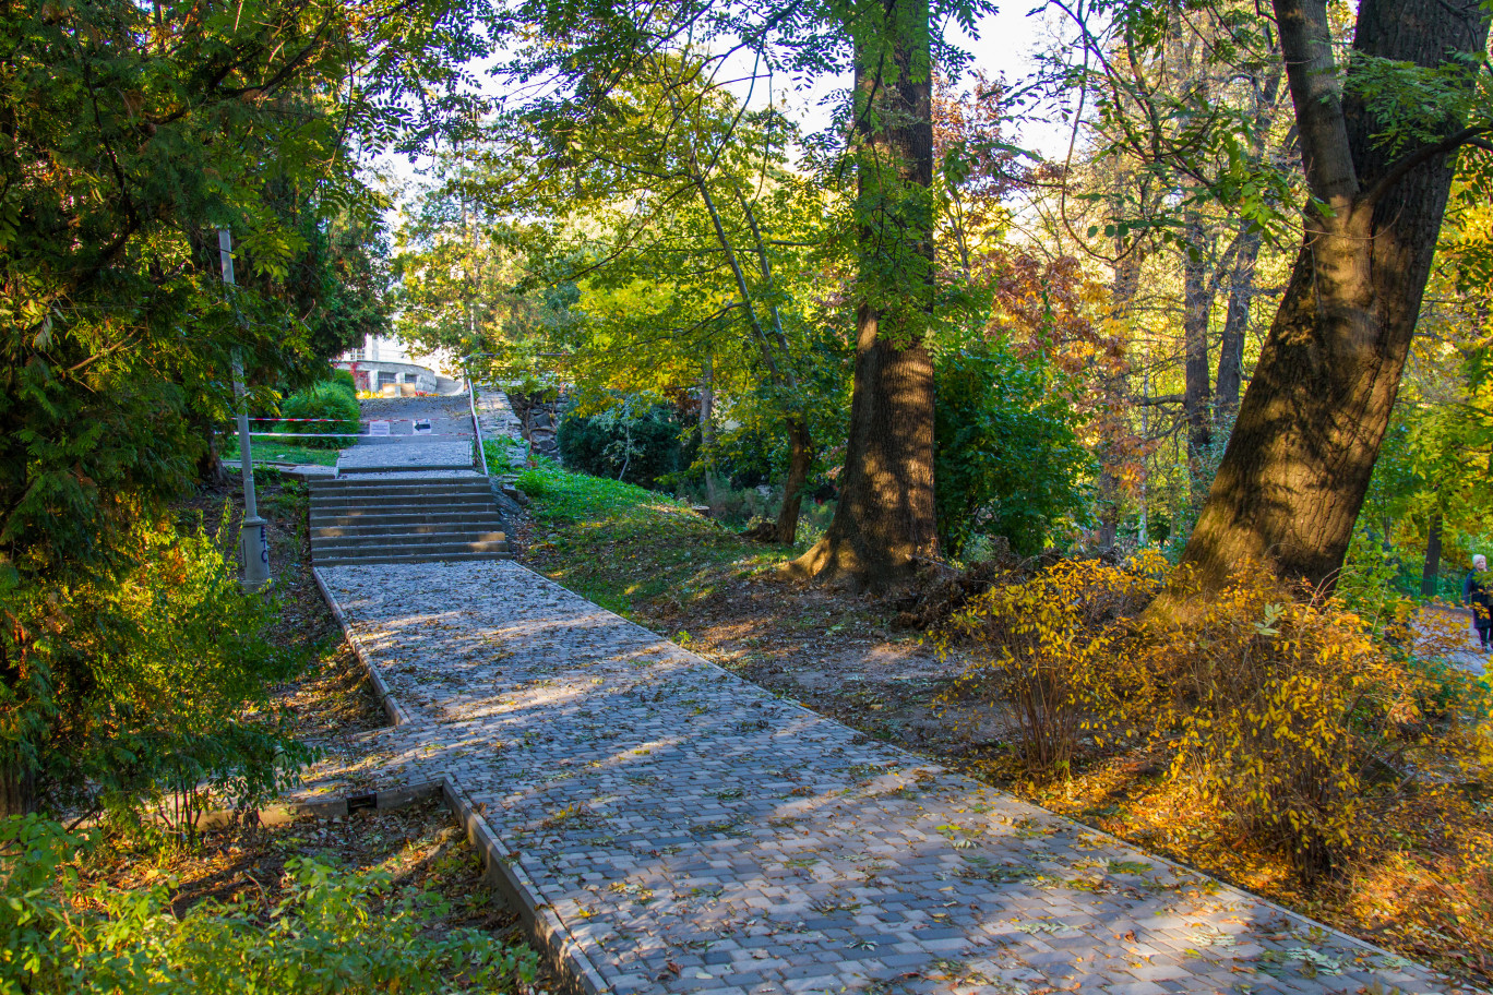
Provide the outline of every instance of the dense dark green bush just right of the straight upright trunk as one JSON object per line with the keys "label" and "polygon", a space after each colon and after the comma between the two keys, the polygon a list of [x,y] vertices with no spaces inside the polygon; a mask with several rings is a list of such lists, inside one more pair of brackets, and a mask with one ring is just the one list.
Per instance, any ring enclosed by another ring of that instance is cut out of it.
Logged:
{"label": "dense dark green bush just right of the straight upright trunk", "polygon": [[1073,406],[1038,357],[1003,340],[944,354],[936,365],[939,542],[951,555],[975,536],[1000,536],[1032,555],[1078,515],[1090,456]]}

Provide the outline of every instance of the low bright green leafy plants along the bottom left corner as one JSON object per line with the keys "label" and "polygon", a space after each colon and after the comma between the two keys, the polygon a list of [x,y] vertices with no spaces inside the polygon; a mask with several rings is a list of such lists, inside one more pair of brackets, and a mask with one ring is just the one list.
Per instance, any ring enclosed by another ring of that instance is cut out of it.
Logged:
{"label": "low bright green leafy plants along the bottom left corner", "polygon": [[431,932],[443,904],[396,892],[382,870],[297,858],[267,916],[205,901],[178,919],[166,886],[82,888],[72,861],[87,846],[36,816],[0,822],[0,995],[503,992],[536,974],[532,950]]}

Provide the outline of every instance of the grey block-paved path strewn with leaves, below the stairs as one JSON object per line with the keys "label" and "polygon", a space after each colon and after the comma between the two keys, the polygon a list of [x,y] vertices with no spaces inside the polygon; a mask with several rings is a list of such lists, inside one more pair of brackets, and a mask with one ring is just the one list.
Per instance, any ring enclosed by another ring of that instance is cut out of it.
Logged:
{"label": "grey block-paved path strewn with leaves, below the stairs", "polygon": [[366,735],[357,776],[445,780],[584,989],[1456,991],[517,564],[320,574],[402,722]]}

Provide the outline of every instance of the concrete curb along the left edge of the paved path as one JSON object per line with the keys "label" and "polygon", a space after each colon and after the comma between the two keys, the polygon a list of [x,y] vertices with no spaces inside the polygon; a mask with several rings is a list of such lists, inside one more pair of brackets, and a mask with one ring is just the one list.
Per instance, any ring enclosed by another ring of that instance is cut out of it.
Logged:
{"label": "concrete curb along the left edge of the paved path", "polygon": [[[393,725],[406,725],[411,722],[409,713],[405,710],[394,695],[388,689],[384,677],[379,674],[378,667],[373,665],[372,656],[358,641],[357,635],[352,634],[352,628],[348,625],[348,618],[342,612],[342,606],[337,604],[336,597],[327,588],[325,579],[321,576],[320,567],[311,568],[311,576],[317,579],[317,588],[321,591],[322,600],[325,600],[327,607],[331,609],[333,618],[337,619],[337,625],[342,627],[342,635],[348,640],[352,652],[357,653],[358,661],[369,674],[369,680],[373,682],[373,694],[378,695],[379,703],[384,706],[384,713],[390,718]],[[461,789],[452,777],[443,777],[439,785],[420,785],[414,788],[397,788],[387,792],[376,792],[378,798],[384,795],[394,797],[409,795],[403,804],[409,804],[417,798],[430,797],[440,792],[446,803],[446,807],[455,814],[461,828],[467,834],[472,846],[476,847],[478,856],[482,859],[482,880],[493,888],[503,901],[518,913],[518,919],[523,925],[529,941],[540,952],[549,962],[549,968],[561,979],[564,988],[572,995],[606,995],[611,989],[606,982],[602,980],[602,973],[596,970],[591,959],[587,956],[585,950],[581,949],[579,940],[566,929],[560,916],[555,914],[554,908],[548,903],[539,900],[539,889],[534,886],[529,874],[524,873],[518,864],[515,864],[509,850],[502,844],[499,835],[493,831],[493,826],[487,819],[482,817],[482,810],[473,804],[472,798]],[[337,804],[342,804],[342,810],[337,810]],[[322,804],[322,803],[317,803]],[[355,800],[336,800],[324,803],[327,817],[336,814],[346,814],[349,804],[355,804]],[[378,804],[376,807],[385,807]],[[393,807],[393,806],[390,806]]]}

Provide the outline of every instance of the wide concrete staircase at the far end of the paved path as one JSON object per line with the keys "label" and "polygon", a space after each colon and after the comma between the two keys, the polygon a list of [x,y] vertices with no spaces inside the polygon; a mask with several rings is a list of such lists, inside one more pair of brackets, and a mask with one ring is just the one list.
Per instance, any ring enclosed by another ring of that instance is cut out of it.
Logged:
{"label": "wide concrete staircase at the far end of the paved path", "polygon": [[511,559],[487,477],[336,477],[311,485],[318,567]]}

